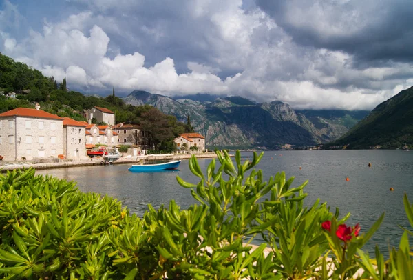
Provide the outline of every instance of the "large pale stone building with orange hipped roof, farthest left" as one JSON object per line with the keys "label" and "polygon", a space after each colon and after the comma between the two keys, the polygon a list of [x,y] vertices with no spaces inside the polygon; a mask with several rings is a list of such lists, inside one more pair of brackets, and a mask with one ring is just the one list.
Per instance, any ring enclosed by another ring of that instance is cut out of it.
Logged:
{"label": "large pale stone building with orange hipped roof, farthest left", "polygon": [[63,119],[36,109],[0,114],[0,155],[4,160],[57,157],[63,154]]}

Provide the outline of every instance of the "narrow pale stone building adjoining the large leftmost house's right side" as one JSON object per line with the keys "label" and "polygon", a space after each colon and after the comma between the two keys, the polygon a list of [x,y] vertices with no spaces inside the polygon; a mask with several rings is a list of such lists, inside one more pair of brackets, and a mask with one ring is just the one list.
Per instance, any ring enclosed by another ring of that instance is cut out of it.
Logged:
{"label": "narrow pale stone building adjoining the large leftmost house's right side", "polygon": [[70,118],[63,118],[63,154],[67,159],[86,157],[86,124]]}

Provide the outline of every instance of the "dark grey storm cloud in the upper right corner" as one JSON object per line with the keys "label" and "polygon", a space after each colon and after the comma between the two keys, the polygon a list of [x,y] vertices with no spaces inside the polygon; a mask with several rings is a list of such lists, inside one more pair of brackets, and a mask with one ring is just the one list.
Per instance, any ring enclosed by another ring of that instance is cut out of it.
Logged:
{"label": "dark grey storm cloud in the upper right corner", "polygon": [[413,59],[410,0],[257,0],[257,5],[300,45],[347,52],[361,67],[363,61]]}

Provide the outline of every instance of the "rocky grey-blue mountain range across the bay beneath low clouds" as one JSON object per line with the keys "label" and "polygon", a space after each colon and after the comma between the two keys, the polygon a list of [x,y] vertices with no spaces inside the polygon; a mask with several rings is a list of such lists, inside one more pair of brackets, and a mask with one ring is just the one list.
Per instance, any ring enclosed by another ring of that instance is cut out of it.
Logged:
{"label": "rocky grey-blue mountain range across the bay beneath low clouds", "polygon": [[[195,99],[195,100],[193,100]],[[285,144],[313,146],[346,134],[368,111],[293,110],[281,101],[255,103],[243,97],[182,96],[172,99],[141,90],[123,99],[134,106],[149,104],[187,121],[203,134],[209,148],[277,149]]]}

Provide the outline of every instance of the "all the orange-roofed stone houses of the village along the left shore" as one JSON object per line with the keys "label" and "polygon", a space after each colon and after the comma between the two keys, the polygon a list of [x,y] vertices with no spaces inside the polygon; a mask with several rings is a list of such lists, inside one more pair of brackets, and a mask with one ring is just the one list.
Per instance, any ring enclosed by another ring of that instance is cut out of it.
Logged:
{"label": "all the orange-roofed stone houses of the village along the left shore", "polygon": [[[88,150],[104,148],[117,152],[127,146],[125,156],[146,154],[153,149],[151,134],[137,124],[116,123],[115,113],[94,106],[84,113],[87,121],[59,117],[36,108],[15,108],[0,114],[0,159],[35,158],[87,159]],[[92,120],[94,123],[92,123]],[[103,125],[98,125],[98,124]],[[174,139],[176,150],[205,151],[205,137],[184,133]]]}

